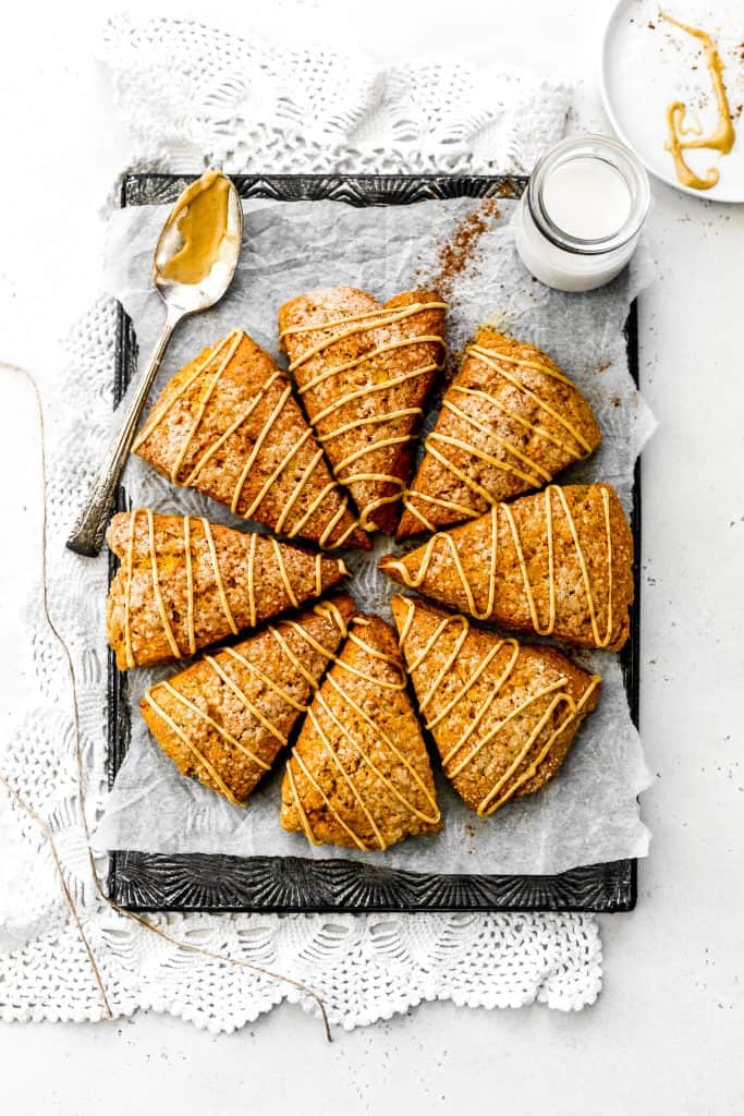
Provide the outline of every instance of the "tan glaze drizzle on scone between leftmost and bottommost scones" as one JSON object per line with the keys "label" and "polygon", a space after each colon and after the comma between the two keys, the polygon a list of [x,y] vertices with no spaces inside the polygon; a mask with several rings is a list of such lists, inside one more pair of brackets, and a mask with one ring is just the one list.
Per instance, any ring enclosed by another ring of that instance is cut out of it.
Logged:
{"label": "tan glaze drizzle on scone between leftmost and bottommost scones", "polygon": [[[344,619],[344,615],[332,602],[319,602],[315,606],[313,612],[318,616],[321,616],[329,623],[334,624],[341,633],[341,636],[345,636],[347,634],[347,626],[346,626],[346,620]],[[336,660],[335,654],[328,651],[328,648],[323,646],[323,644],[319,643],[315,638],[315,636],[312,636],[309,632],[306,632],[306,629],[302,627],[301,624],[298,624],[296,620],[288,620],[287,626],[291,627],[292,631],[296,632],[302,639],[305,639],[305,642],[308,643],[309,646],[315,652],[322,655],[327,661],[332,662]],[[291,666],[294,667],[294,670],[302,675],[305,681],[308,682],[308,684],[310,685],[311,690],[317,690],[318,689],[317,680],[301,665],[300,660],[291,651],[286,639],[281,635],[281,633],[271,625],[269,625],[267,631],[273,636],[279,647],[281,648],[282,653],[289,660]],[[228,672],[224,670],[224,666],[219,661],[220,658],[222,658],[224,662],[223,656],[231,658],[234,663],[238,663],[239,666],[249,671],[252,675],[259,679],[259,681],[263,685],[268,686],[273,693],[277,694],[278,698],[280,698],[283,702],[286,702],[296,712],[307,713],[308,706],[302,704],[302,702],[298,702],[274,679],[270,677],[270,675],[265,674],[259,666],[257,666],[254,663],[251,663],[250,660],[245,658],[245,656],[241,654],[241,652],[238,651],[236,647],[224,647],[219,653],[219,657],[212,655],[204,655],[203,662],[206,663],[212,668],[212,671],[214,671],[214,673],[220,679],[220,682],[224,686],[226,686],[226,689],[232,694],[234,694],[234,696],[238,699],[241,705],[243,705],[243,708],[248,710],[248,712],[253,718],[255,718],[259,724],[261,724],[262,728],[277,740],[278,744],[280,747],[283,747],[287,743],[287,735],[280,729],[278,729],[277,725],[272,721],[270,721],[268,716],[265,716],[261,712],[261,710],[258,708],[257,704],[254,704],[254,702],[250,700],[245,691],[241,686],[239,686],[235,677],[233,675],[228,674]],[[177,679],[174,681],[177,681]],[[158,690],[165,691],[165,693],[167,693],[171,698],[175,699],[178,702],[178,704],[187,709],[196,718],[197,721],[205,722],[210,727],[210,729],[216,732],[219,738],[226,745],[230,745],[230,748],[238,749],[239,752],[245,756],[252,763],[259,767],[262,771],[264,772],[269,771],[271,769],[271,764],[267,763],[264,760],[261,759],[260,756],[257,756],[255,752],[251,751],[250,748],[247,748],[245,744],[241,743],[241,741],[238,740],[231,732],[229,732],[223,724],[220,724],[218,721],[214,720],[214,718],[210,716],[209,713],[206,713],[204,710],[200,709],[199,705],[195,705],[192,701],[190,701],[171,682],[167,681],[158,682],[146,691],[145,701],[147,702],[149,708],[154,710],[154,712],[157,713],[160,718],[162,718],[162,720],[167,724],[171,731],[178,738],[182,744],[184,744],[184,747],[191,752],[191,754],[194,757],[197,763],[207,772],[210,778],[219,788],[220,792],[224,795],[224,797],[230,802],[232,802],[233,806],[242,806],[243,804],[235,798],[232,790],[226,785],[226,782],[224,781],[224,779],[222,778],[215,766],[209,760],[204,751],[196,745],[194,740],[185,731],[184,727],[182,724],[178,724],[168,713],[166,713],[166,711],[156,700],[155,693]]]}

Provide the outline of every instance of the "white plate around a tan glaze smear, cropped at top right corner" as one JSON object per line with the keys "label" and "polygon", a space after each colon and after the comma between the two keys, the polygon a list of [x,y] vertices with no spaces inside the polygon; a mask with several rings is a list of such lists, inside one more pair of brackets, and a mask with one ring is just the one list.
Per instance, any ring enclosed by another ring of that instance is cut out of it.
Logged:
{"label": "white plate around a tan glaze smear, cropped at top right corner", "polygon": [[601,71],[607,115],[620,140],[663,182],[695,198],[744,202],[744,2],[668,0],[661,7],[683,23],[707,31],[725,66],[734,146],[728,155],[705,148],[685,152],[685,161],[698,174],[716,166],[718,182],[711,190],[683,186],[665,150],[666,109],[673,100],[683,100],[690,114],[697,113],[706,133],[715,126],[717,113],[699,41],[660,18],[657,0],[619,0],[610,17]]}

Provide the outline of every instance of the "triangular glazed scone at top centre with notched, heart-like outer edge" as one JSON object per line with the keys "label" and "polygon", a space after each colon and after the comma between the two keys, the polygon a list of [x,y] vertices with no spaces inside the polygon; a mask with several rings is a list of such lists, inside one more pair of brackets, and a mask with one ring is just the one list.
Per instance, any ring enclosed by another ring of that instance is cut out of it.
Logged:
{"label": "triangular glazed scone at top centre with notched, heart-like outer edge", "polygon": [[444,359],[445,309],[428,290],[381,306],[336,287],[279,311],[280,343],[308,417],[367,531],[392,533],[398,521],[423,403]]}

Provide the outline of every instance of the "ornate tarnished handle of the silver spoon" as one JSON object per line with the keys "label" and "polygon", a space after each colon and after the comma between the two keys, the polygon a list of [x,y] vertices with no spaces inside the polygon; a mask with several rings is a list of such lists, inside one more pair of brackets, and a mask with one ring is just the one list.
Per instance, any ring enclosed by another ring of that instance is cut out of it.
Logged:
{"label": "ornate tarnished handle of the silver spoon", "polygon": [[95,558],[100,552],[119,477],[134,441],[139,415],[142,414],[157,369],[161,366],[163,354],[167,348],[173,330],[182,317],[182,314],[167,315],[163,333],[153,349],[149,364],[133,391],[132,398],[127,403],[119,432],[108,448],[96,479],[90,485],[88,499],[75,521],[75,527],[67,540],[67,546],[78,555]]}

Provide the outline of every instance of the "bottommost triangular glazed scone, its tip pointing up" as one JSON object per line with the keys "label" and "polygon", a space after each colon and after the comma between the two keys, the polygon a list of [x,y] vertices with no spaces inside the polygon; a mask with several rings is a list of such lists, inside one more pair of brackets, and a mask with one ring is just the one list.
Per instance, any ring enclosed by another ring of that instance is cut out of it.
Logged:
{"label": "bottommost triangular glazed scone, its tip pointing up", "polygon": [[352,619],[308,711],[281,789],[281,824],[363,853],[439,829],[432,768],[393,629]]}

